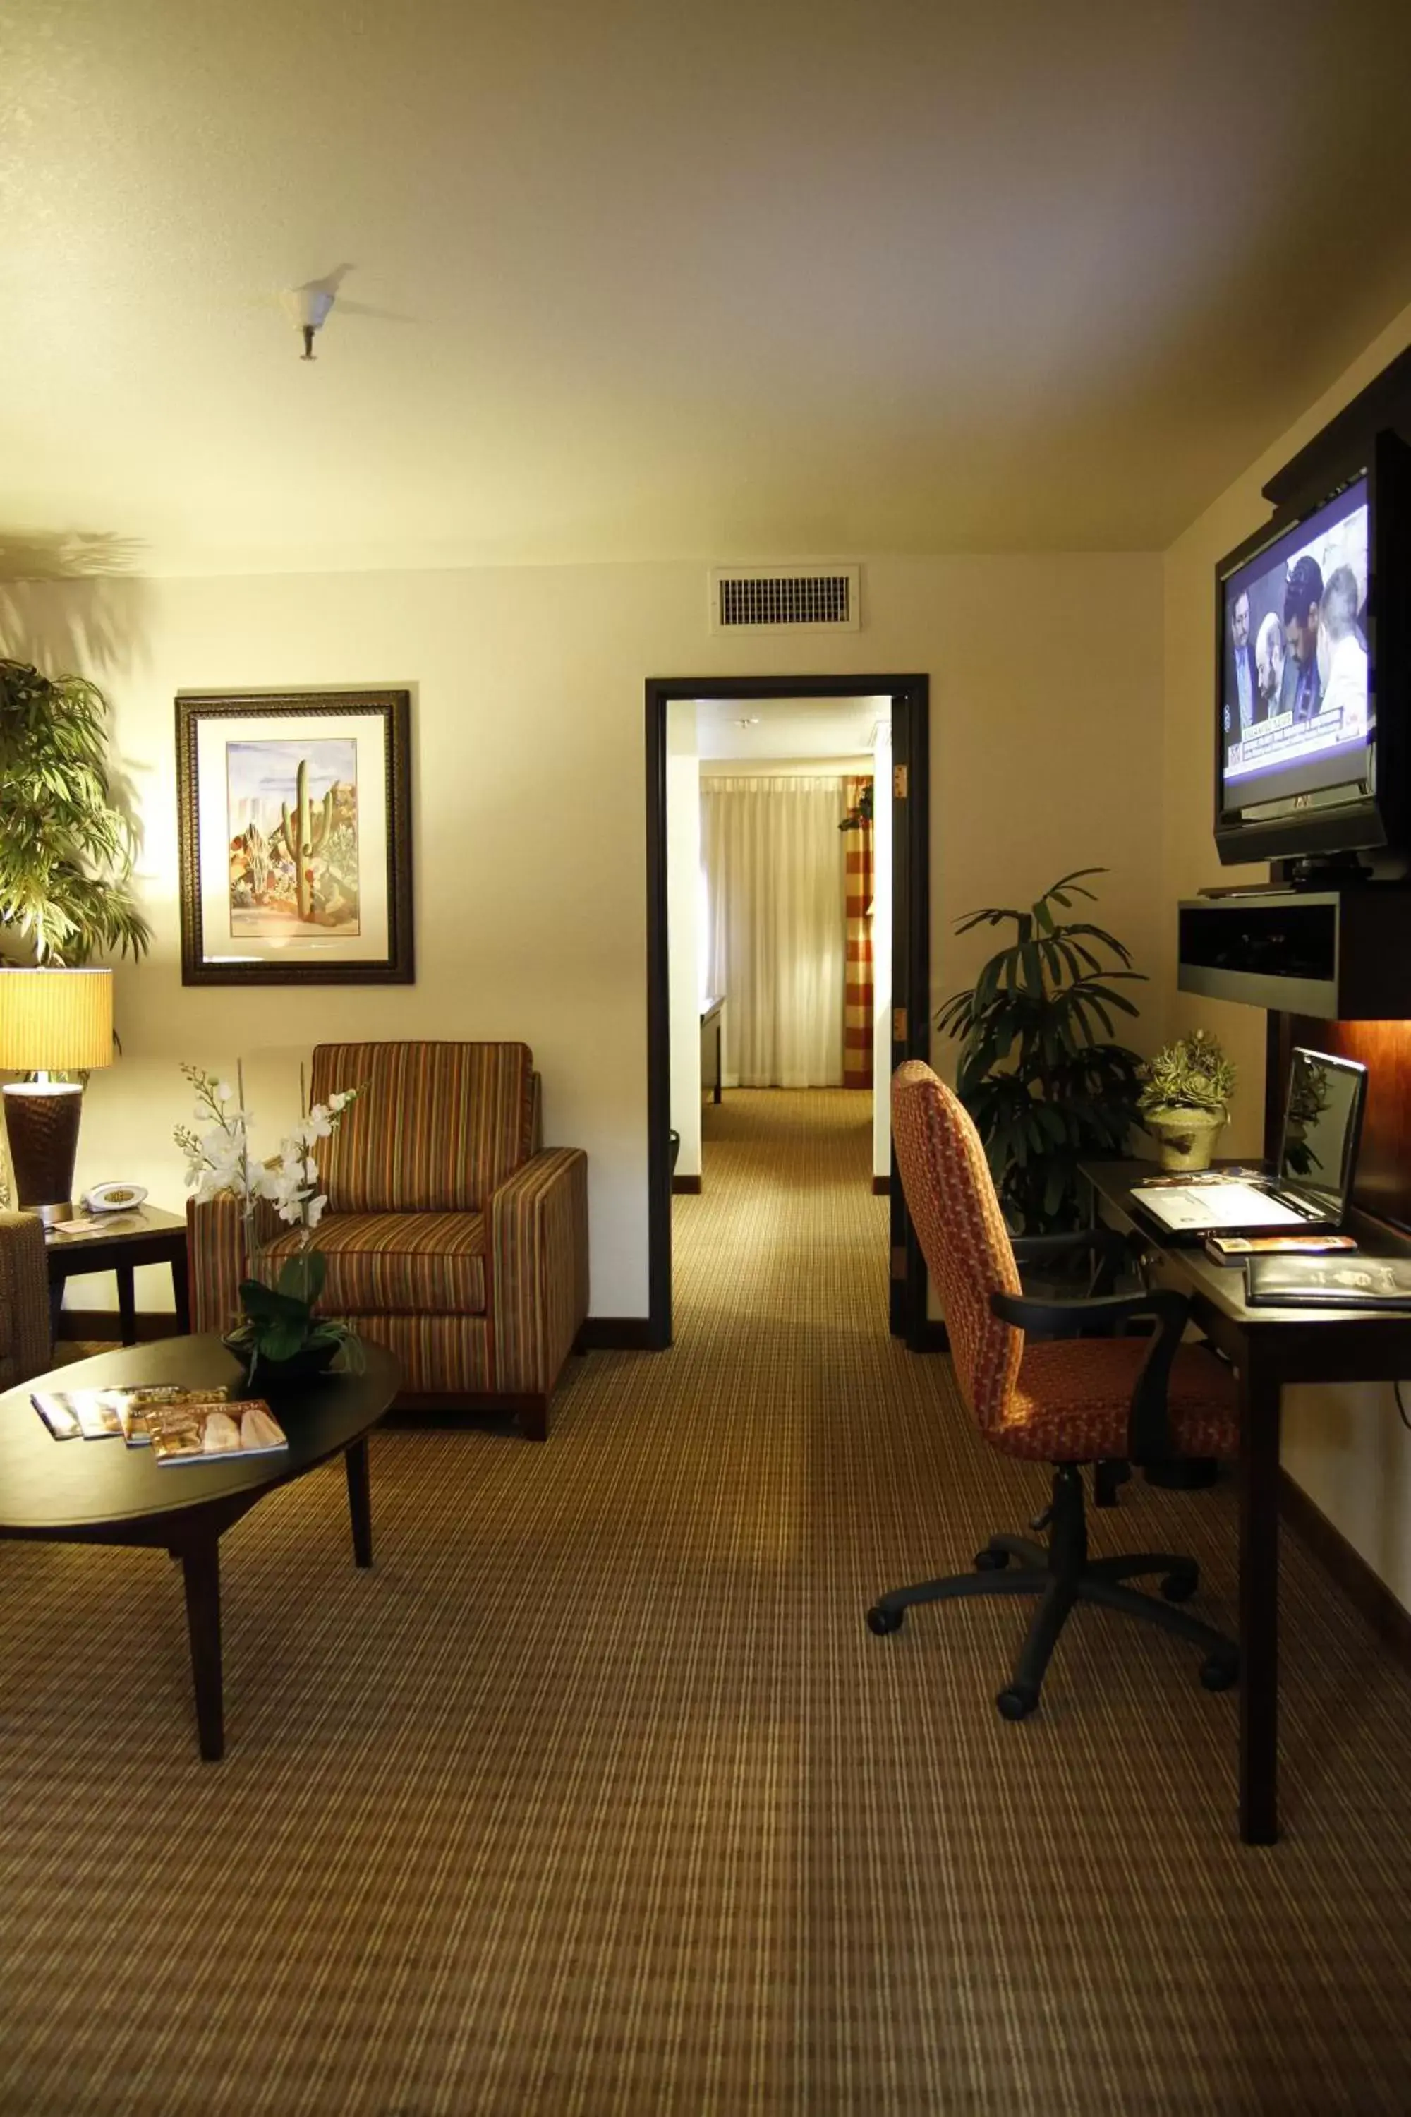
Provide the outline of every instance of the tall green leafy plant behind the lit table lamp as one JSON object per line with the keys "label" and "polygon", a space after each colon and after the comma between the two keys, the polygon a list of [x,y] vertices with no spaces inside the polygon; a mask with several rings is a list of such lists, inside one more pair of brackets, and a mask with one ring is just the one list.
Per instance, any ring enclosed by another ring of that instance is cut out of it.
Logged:
{"label": "tall green leafy plant behind the lit table lamp", "polygon": [[135,851],[97,684],[0,661],[0,942],[70,967],[110,948],[140,957],[150,929],[129,887]]}

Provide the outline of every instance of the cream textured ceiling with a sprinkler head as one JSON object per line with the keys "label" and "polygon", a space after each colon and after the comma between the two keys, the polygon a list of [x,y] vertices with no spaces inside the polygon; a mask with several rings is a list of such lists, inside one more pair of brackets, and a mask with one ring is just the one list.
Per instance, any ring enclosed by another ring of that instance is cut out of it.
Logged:
{"label": "cream textured ceiling with a sprinkler head", "polygon": [[1411,298],[1409,68],[1405,0],[15,0],[0,542],[1159,548]]}

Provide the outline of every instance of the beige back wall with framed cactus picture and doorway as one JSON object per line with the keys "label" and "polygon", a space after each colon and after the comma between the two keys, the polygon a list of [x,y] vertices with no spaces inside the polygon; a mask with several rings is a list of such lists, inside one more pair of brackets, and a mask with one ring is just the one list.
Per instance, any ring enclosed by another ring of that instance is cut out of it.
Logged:
{"label": "beige back wall with framed cactus picture and doorway", "polygon": [[[178,1061],[239,1054],[260,1137],[319,1037],[525,1037],[548,1141],[590,1158],[592,1313],[647,1308],[649,675],[931,673],[935,997],[979,961],[948,921],[1113,868],[1104,912],[1153,965],[1161,904],[1161,561],[867,565],[867,629],[713,637],[696,565],[516,567],[6,591],[2,637],[116,707],[154,948],[118,972],[123,1058],[95,1075],[80,1181],[180,1202]],[[188,991],[176,891],[178,690],[413,686],[417,984]],[[1144,1042],[1151,1042],[1147,1037]],[[110,1281],[74,1289],[112,1300]],[[140,1300],[169,1300],[161,1277]]]}

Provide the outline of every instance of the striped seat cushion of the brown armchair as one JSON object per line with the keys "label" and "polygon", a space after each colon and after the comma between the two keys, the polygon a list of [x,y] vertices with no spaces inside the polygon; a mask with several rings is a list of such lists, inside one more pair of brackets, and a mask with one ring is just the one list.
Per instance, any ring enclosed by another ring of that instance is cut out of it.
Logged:
{"label": "striped seat cushion of the brown armchair", "polygon": [[[324,1315],[484,1315],[484,1213],[326,1213],[315,1243]],[[296,1249],[296,1230],[273,1241],[260,1277],[277,1279]]]}

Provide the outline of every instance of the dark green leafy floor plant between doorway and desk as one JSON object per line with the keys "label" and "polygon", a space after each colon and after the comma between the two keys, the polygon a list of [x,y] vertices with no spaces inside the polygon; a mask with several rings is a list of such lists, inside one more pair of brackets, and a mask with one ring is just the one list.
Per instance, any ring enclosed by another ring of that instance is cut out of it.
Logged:
{"label": "dark green leafy floor plant between doorway and desk", "polygon": [[1028,910],[988,906],[956,921],[956,934],[1015,929],[935,1020],[960,1039],[956,1092],[1020,1234],[1075,1228],[1079,1162],[1121,1156],[1136,1124],[1142,1061],[1115,1042],[1113,1014],[1136,1014],[1117,987],[1144,982],[1142,972],[1104,927],[1053,917],[1073,910],[1075,898],[1096,902],[1085,879],[1104,872],[1075,868]]}

